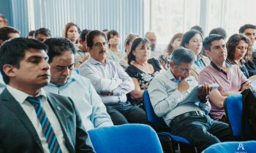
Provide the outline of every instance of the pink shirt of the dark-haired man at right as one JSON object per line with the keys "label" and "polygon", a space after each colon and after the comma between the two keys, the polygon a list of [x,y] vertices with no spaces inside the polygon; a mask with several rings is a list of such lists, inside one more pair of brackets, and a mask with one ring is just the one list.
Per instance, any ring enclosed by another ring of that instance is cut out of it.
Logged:
{"label": "pink shirt of the dark-haired man at right", "polygon": [[[208,84],[219,84],[218,90],[219,93],[223,93],[225,91],[239,91],[241,85],[248,81],[246,76],[244,76],[243,72],[238,68],[238,66],[231,66],[230,64],[226,63],[228,70],[227,73],[225,71],[220,70],[217,68],[216,65],[211,63],[206,68],[203,68],[199,74],[199,84],[203,84],[204,82]],[[214,103],[211,102],[211,111],[210,115],[216,120],[222,118],[225,114],[224,108],[219,109]]]}

